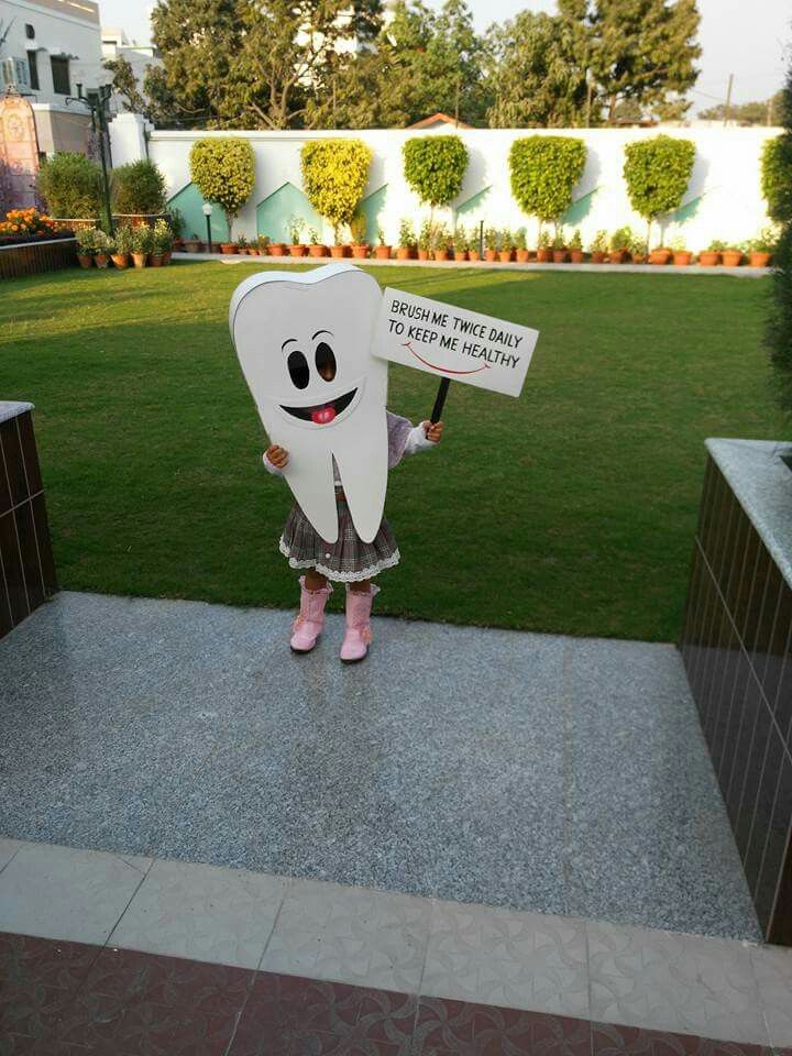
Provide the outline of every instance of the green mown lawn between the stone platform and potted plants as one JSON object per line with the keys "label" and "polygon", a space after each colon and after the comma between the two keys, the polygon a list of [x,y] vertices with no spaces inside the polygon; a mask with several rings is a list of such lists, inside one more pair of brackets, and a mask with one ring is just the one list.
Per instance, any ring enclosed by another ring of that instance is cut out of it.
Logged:
{"label": "green mown lawn between the stone platform and potted plants", "polygon": [[[61,583],[293,606],[290,504],[231,348],[256,265],[62,272],[0,287],[0,395],[32,399]],[[452,386],[447,438],[392,475],[380,612],[672,640],[710,436],[776,438],[768,283],[374,270],[542,331],[520,399]],[[414,420],[436,383],[391,367]],[[336,604],[341,595],[337,594]]]}

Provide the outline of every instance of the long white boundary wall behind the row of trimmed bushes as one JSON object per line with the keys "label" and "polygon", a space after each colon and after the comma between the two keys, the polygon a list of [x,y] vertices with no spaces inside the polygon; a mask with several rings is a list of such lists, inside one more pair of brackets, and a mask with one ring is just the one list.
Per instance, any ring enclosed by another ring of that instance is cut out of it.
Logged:
{"label": "long white boundary wall behind the row of trimmed bushes", "polygon": [[[141,119],[138,119],[139,121]],[[129,138],[136,134],[127,125],[111,123],[113,155],[124,160],[140,156],[140,147],[130,146]],[[438,129],[437,134],[453,132]],[[525,217],[512,197],[509,187],[508,152],[520,136],[573,135],[587,146],[585,172],[574,191],[578,200],[596,191],[587,213],[570,224],[580,227],[587,244],[593,234],[605,229],[614,231],[629,223],[644,232],[645,221],[632,211],[622,176],[624,146],[636,140],[649,139],[662,131],[669,135],[692,140],[696,145],[693,176],[683,200],[683,208],[694,204],[682,223],[669,222],[664,240],[670,242],[681,234],[691,250],[705,249],[714,239],[740,242],[750,239],[768,223],[766,202],[760,189],[760,155],[766,140],[780,134],[780,129],[460,129],[459,135],[468,145],[470,164],[462,193],[454,204],[469,200],[491,187],[484,200],[463,220],[466,224],[483,220],[487,226],[509,227],[525,224],[529,242],[535,244],[536,221]],[[387,185],[381,220],[386,238],[396,243],[402,217],[411,217],[416,227],[426,209],[407,187],[403,176],[402,145],[416,135],[433,134],[420,130],[361,130],[342,132],[168,132],[155,131],[148,135],[148,155],[163,170],[168,195],[174,195],[189,183],[189,151],[204,136],[238,135],[250,141],[256,157],[256,184],[253,194],[234,224],[234,234],[252,237],[256,233],[256,205],[277,190],[287,180],[301,187],[300,148],[308,140],[329,136],[359,138],[374,154],[366,195]],[[139,141],[140,142],[140,141]],[[450,211],[444,211],[452,222]],[[263,232],[266,233],[266,232]],[[332,232],[326,226],[323,240]],[[658,240],[653,232],[652,241]]]}

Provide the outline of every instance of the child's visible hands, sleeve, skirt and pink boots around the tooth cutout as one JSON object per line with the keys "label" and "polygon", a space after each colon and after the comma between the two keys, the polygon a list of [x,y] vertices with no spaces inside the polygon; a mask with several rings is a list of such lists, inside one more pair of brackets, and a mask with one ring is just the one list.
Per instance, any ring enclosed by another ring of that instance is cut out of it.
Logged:
{"label": "child's visible hands, sleeve, skirt and pink boots around the tooth cutout", "polygon": [[[424,421],[414,427],[407,418],[389,410],[386,417],[388,470],[398,465],[405,455],[431,450],[440,443],[443,431],[441,421]],[[287,464],[288,451],[279,444],[271,444],[264,453],[266,470],[278,476]],[[297,503],[280,537],[280,552],[292,568],[307,570],[299,579],[300,612],[295,620],[290,645],[295,652],[310,652],[324,625],[324,605],[332,593],[328,581],[345,583],[346,631],[341,646],[341,660],[355,663],[364,659],[372,640],[372,602],[380,587],[371,581],[383,569],[398,564],[399,552],[384,517],[374,539],[363,542],[352,524],[334,460],[333,477],[339,518],[337,542],[324,542]]]}

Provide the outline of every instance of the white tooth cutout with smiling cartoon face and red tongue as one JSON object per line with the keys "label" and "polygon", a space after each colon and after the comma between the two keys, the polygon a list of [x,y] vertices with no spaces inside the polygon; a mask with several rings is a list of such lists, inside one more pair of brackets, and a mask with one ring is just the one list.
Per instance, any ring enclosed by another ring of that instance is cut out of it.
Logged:
{"label": "white tooth cutout with smiling cartoon face and red tongue", "polygon": [[263,272],[234,290],[231,337],[285,477],[322,539],[338,539],[333,459],[358,535],[377,534],[387,488],[387,364],[371,355],[382,294],[351,264]]}

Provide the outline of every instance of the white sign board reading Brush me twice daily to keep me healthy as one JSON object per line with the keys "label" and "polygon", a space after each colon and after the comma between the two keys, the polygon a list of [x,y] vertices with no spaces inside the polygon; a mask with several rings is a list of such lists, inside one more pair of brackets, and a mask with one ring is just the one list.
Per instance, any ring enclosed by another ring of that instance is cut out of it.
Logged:
{"label": "white sign board reading Brush me twice daily to keep me healthy", "polygon": [[519,396],[538,330],[389,287],[372,352],[439,377]]}

